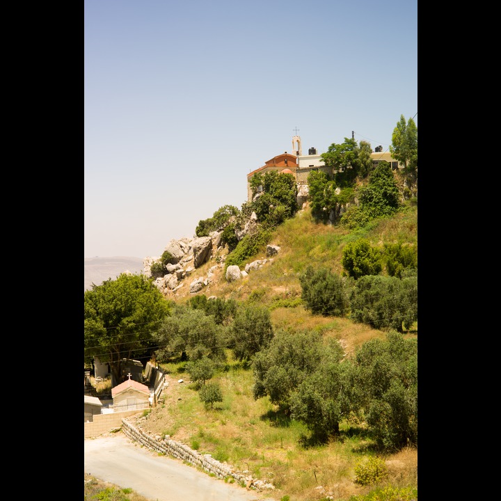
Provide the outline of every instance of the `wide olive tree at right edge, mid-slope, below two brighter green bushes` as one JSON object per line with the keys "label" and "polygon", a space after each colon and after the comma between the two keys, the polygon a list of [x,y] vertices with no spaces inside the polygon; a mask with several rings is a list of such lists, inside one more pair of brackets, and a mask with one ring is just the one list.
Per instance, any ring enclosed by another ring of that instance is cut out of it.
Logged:
{"label": "wide olive tree at right edge, mid-slope, below two brighter green bushes", "polygon": [[350,305],[353,321],[401,333],[417,320],[417,276],[365,275],[356,280]]}

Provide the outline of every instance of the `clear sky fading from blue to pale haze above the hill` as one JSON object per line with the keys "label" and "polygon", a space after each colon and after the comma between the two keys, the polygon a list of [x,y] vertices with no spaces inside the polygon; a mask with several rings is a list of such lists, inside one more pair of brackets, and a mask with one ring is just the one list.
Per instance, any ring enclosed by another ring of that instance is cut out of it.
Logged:
{"label": "clear sky fading from blue to pale haze above the hill", "polygon": [[292,137],[417,125],[417,0],[85,0],[84,257],[159,257]]}

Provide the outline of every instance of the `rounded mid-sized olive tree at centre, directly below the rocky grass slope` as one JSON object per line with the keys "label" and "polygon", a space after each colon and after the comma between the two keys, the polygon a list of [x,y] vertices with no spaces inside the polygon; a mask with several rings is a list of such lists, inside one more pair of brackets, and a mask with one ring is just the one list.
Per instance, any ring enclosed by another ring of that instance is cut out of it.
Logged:
{"label": "rounded mid-sized olive tree at centre, directly below the rocky grass slope", "polygon": [[230,327],[230,346],[237,360],[250,360],[266,349],[273,338],[273,324],[268,308],[250,305],[239,308]]}

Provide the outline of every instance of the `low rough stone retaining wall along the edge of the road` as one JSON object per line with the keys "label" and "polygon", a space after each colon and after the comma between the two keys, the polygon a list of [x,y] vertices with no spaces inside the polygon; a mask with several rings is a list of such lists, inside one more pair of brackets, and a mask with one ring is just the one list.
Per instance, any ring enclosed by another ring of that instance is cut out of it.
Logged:
{"label": "low rough stone retaining wall along the edge of the road", "polygon": [[166,435],[166,438],[162,438],[159,435],[148,435],[143,430],[134,427],[134,425],[126,419],[122,419],[122,431],[125,436],[134,440],[134,442],[148,447],[150,450],[159,452],[159,454],[173,456],[193,466],[202,468],[202,470],[212,473],[218,478],[225,479],[227,477],[232,477],[240,485],[246,486],[247,488],[255,488],[257,491],[275,488],[272,484],[267,484],[261,480],[253,479],[250,475],[245,475],[245,472],[234,470],[228,464],[221,463],[221,461],[214,459],[210,454],[200,454],[187,445],[170,440],[168,435]]}

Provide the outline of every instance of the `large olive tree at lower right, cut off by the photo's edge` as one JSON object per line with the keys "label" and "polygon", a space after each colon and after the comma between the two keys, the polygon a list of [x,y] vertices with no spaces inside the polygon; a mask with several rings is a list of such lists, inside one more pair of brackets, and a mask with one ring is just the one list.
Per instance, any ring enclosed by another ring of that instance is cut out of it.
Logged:
{"label": "large olive tree at lower right, cut off by the photo's edge", "polygon": [[383,450],[417,447],[417,339],[391,331],[357,350],[353,392]]}

